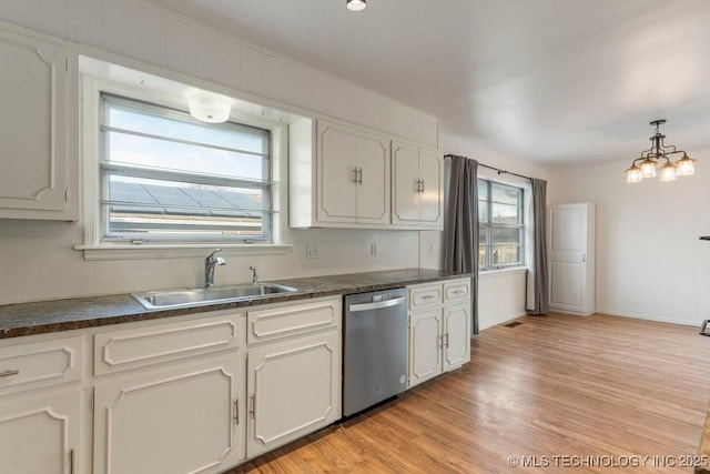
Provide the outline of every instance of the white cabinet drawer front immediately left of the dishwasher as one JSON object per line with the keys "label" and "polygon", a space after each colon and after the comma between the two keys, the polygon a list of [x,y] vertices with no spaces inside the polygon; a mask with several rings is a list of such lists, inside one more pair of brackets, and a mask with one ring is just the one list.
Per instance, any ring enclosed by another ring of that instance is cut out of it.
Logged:
{"label": "white cabinet drawer front immediately left of the dishwasher", "polygon": [[293,306],[250,311],[246,342],[254,343],[335,326],[343,305],[339,299]]}

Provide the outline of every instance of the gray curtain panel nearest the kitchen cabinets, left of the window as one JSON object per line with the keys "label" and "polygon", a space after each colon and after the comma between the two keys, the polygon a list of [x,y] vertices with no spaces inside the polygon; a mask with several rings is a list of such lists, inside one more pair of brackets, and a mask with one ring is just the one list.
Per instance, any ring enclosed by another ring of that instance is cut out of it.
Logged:
{"label": "gray curtain panel nearest the kitchen cabinets, left of the window", "polygon": [[473,333],[478,334],[478,162],[447,154],[449,164],[444,226],[444,268],[473,273]]}

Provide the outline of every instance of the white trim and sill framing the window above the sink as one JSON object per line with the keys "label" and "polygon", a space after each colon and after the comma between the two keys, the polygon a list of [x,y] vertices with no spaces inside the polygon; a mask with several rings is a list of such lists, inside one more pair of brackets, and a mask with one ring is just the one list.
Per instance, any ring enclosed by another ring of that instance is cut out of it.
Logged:
{"label": "white trim and sill framing the window above the sink", "polygon": [[82,221],[84,243],[74,250],[83,251],[84,260],[139,260],[173,259],[203,255],[205,250],[219,246],[225,255],[280,255],[293,251],[293,244],[283,242],[283,232],[287,226],[282,215],[287,205],[284,190],[287,189],[286,157],[288,150],[287,125],[252,115],[232,113],[232,120],[271,131],[272,139],[272,242],[273,243],[145,243],[130,245],[124,243],[101,242],[99,215],[99,105],[101,92],[125,95],[159,105],[185,109],[179,98],[150,90],[139,90],[118,82],[81,74],[81,163],[82,163]]}

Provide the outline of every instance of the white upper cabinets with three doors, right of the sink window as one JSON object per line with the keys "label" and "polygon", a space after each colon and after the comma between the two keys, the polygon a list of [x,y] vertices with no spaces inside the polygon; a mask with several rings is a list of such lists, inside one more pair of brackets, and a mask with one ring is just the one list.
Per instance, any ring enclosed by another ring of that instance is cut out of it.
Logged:
{"label": "white upper cabinets with three doors, right of the sink window", "polygon": [[292,228],[443,230],[437,150],[311,119],[290,134]]}

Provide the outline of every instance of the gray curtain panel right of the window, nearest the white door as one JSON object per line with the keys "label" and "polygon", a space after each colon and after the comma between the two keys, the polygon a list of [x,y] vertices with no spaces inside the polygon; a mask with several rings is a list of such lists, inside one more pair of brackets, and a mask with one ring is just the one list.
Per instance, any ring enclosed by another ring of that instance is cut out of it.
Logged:
{"label": "gray curtain panel right of the window, nearest the white door", "polygon": [[535,307],[529,314],[547,314],[550,309],[550,289],[547,266],[547,181],[530,179],[532,184],[532,271],[535,272]]}

